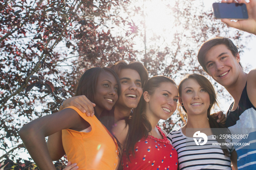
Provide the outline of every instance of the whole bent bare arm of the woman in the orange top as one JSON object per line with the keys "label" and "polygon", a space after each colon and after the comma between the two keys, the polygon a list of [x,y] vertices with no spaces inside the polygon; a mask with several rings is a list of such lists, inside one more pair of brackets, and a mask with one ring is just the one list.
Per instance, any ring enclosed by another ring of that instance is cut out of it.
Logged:
{"label": "whole bent bare arm of the woman in the orange top", "polygon": [[40,170],[56,170],[45,137],[63,129],[76,130],[83,123],[84,120],[76,111],[67,108],[31,121],[20,129],[19,135]]}

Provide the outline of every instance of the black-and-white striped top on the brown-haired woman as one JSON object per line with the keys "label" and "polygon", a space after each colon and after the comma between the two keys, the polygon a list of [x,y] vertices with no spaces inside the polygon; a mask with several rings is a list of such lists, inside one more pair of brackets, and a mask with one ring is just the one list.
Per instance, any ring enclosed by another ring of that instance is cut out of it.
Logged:
{"label": "black-and-white striped top on the brown-haired woman", "polygon": [[[174,130],[168,134],[172,146],[178,152],[178,169],[197,170],[230,170],[230,157],[226,157],[220,146],[213,146],[218,143],[212,136],[207,136],[208,141],[204,145],[197,146],[194,138],[189,138],[182,133],[182,130]],[[234,149],[228,148],[231,153]]]}

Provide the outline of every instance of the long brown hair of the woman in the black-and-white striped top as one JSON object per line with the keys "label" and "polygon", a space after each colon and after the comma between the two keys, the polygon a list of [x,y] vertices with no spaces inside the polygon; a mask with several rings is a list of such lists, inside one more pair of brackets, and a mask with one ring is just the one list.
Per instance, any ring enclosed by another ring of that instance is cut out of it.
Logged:
{"label": "long brown hair of the woman in the black-and-white striped top", "polygon": [[[211,82],[204,76],[200,75],[200,74],[188,74],[187,76],[185,76],[185,78],[180,82],[180,84],[178,85],[178,92],[179,92],[179,96],[182,96],[182,84],[187,81],[188,79],[194,79],[195,81],[197,81],[197,83],[209,94],[210,96],[210,106],[207,109],[207,117],[209,120],[209,124],[210,124],[210,128],[227,128],[225,125],[218,123],[214,118],[211,117],[210,113],[211,113],[211,108],[214,105],[218,105],[218,100],[217,100],[217,96],[214,90],[214,87],[212,86]],[[185,113],[187,113],[187,110],[185,109],[184,106],[182,106],[181,104],[178,104],[178,110],[180,112],[180,116],[182,118],[182,120],[186,123],[185,119],[184,119],[184,115],[182,114],[182,110],[181,108],[185,111]],[[222,134],[222,132],[218,132],[218,131],[212,131],[212,133],[214,135],[219,135]],[[217,139],[217,141],[219,143],[225,143],[224,139]],[[225,156],[230,157],[229,156],[229,151],[227,150],[227,148],[225,148],[224,146],[221,146],[223,153],[225,154]]]}

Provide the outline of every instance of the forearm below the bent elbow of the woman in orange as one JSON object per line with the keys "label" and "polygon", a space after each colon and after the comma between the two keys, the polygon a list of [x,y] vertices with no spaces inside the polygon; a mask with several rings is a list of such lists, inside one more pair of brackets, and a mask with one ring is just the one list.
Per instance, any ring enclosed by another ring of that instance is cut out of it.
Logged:
{"label": "forearm below the bent elbow of the woman in orange", "polygon": [[40,129],[25,125],[19,135],[40,170],[56,170],[46,146],[45,136]]}

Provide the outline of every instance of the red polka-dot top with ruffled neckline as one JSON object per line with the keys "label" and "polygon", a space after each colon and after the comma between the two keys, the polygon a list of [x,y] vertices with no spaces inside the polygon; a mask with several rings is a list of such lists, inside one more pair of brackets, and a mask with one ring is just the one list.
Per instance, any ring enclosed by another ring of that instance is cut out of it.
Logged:
{"label": "red polka-dot top with ruffled neckline", "polygon": [[157,126],[163,139],[155,138],[149,135],[147,139],[139,140],[135,144],[135,155],[129,154],[126,158],[124,151],[122,156],[122,166],[124,170],[177,170],[178,154],[170,141],[166,138],[161,128]]}

